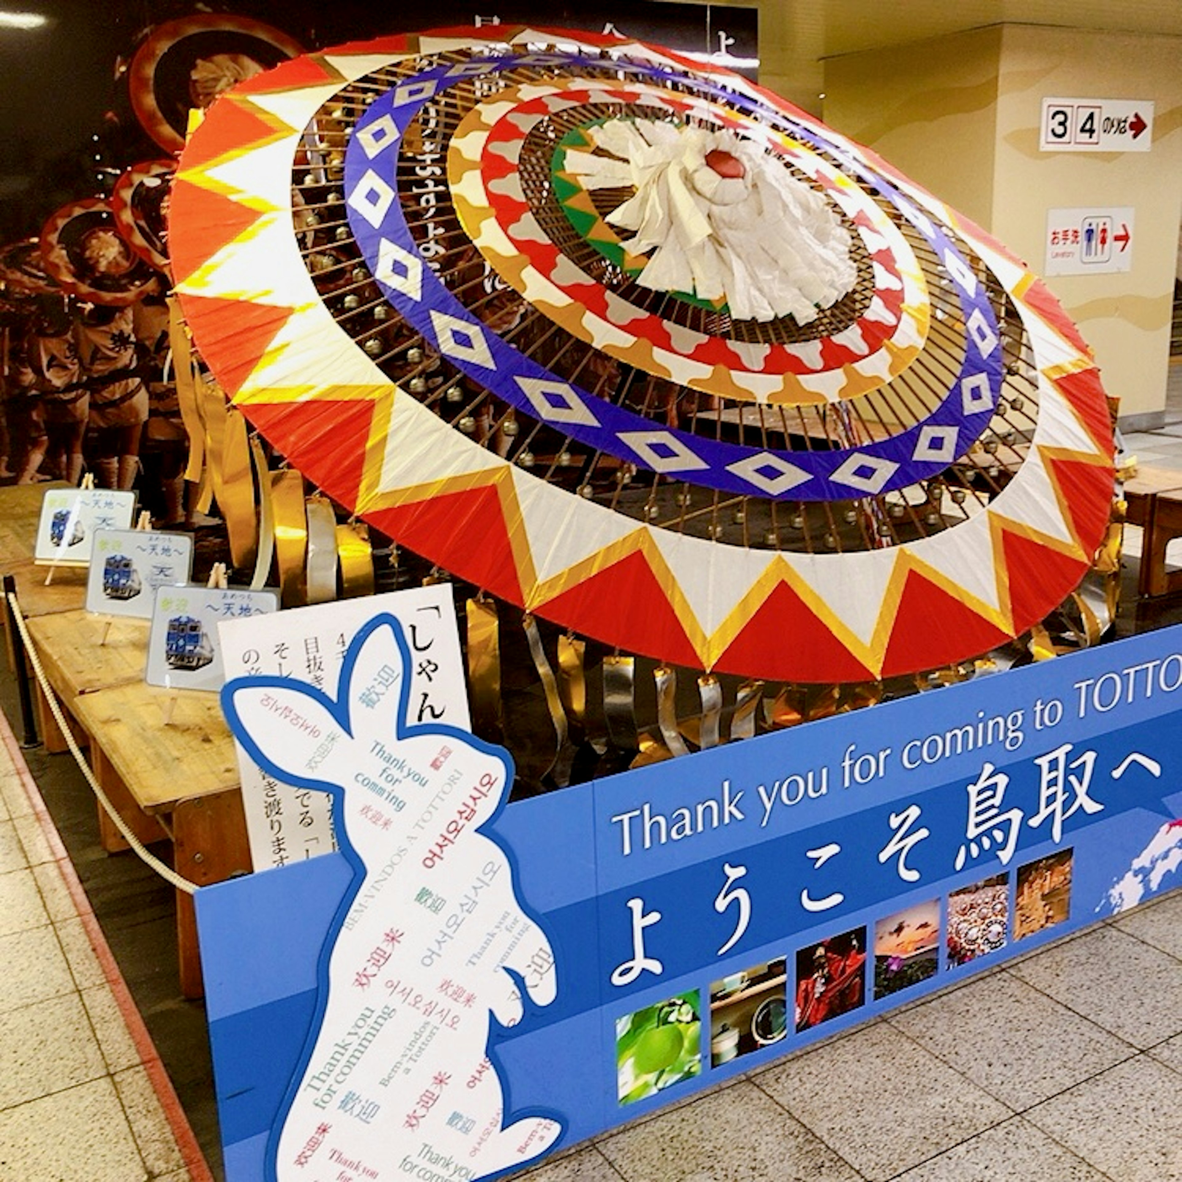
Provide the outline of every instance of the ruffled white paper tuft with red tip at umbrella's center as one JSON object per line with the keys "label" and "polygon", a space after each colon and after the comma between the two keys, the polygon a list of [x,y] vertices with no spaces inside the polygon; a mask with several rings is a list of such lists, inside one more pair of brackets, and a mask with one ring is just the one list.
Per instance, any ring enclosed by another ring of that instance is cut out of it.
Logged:
{"label": "ruffled white paper tuft with red tip at umbrella's center", "polygon": [[636,193],[606,220],[649,254],[638,282],[726,300],[736,320],[808,324],[852,291],[850,235],[825,199],[730,131],[655,119],[585,129],[595,151],[570,150],[584,188]]}

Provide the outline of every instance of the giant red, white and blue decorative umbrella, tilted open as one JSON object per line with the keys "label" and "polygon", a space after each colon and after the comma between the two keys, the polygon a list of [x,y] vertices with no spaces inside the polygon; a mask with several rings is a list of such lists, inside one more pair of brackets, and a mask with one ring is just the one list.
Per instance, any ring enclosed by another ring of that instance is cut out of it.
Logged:
{"label": "giant red, white and blue decorative umbrella, tilted open", "polygon": [[730,72],[483,32],[286,63],[182,156],[184,313],[292,463],[489,595],[690,668],[876,680],[1063,602],[1112,430],[1018,259]]}

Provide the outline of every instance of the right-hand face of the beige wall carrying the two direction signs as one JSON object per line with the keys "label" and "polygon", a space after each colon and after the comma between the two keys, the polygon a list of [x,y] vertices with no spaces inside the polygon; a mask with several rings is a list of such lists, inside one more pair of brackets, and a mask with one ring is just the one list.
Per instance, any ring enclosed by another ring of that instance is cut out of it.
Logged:
{"label": "right-hand face of the beige wall carrying the two direction signs", "polygon": [[[1156,105],[1148,152],[1040,152],[1044,97]],[[1007,25],[998,98],[992,229],[1041,271],[1046,210],[1131,206],[1132,269],[1047,280],[1096,351],[1122,417],[1165,405],[1182,212],[1182,40]]]}

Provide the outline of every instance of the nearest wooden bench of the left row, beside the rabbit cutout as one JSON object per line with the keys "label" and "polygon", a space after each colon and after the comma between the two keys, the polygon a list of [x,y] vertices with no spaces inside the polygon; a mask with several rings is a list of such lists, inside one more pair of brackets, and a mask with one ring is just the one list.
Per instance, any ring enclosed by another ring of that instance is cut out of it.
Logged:
{"label": "nearest wooden bench of the left row, beside the rabbit cutout", "polygon": [[[234,741],[216,694],[136,682],[82,694],[74,710],[95,778],[141,840],[170,838],[174,869],[199,886],[251,872]],[[181,993],[200,998],[193,900],[181,890],[176,935]]]}

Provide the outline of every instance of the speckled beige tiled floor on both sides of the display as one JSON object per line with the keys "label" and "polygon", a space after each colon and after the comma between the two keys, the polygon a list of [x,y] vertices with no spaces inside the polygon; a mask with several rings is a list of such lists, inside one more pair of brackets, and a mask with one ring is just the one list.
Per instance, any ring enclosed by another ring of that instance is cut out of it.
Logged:
{"label": "speckled beige tiled floor on both sides of the display", "polygon": [[[1171,377],[1125,447],[1182,472]],[[0,742],[0,1182],[209,1182],[18,762]],[[1182,1182],[1182,890],[520,1176]]]}

